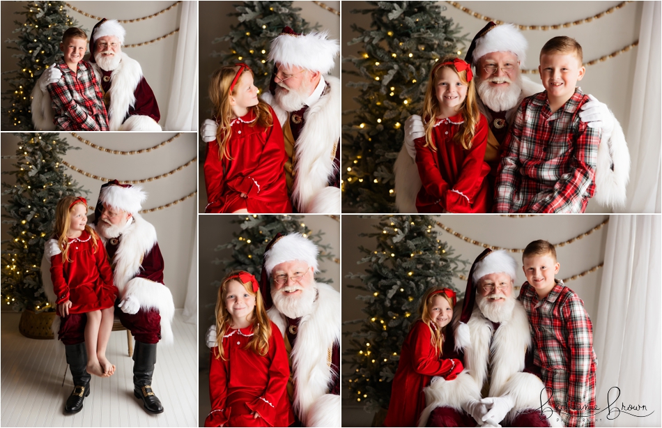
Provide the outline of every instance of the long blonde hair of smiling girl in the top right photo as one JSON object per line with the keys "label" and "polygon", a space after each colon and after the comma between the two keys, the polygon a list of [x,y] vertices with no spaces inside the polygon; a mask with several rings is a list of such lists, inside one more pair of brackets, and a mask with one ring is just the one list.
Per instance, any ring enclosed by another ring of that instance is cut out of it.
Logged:
{"label": "long blonde hair of smiling girl in the top right photo", "polygon": [[467,150],[470,149],[472,140],[476,135],[476,125],[480,120],[480,112],[478,110],[476,99],[476,88],[474,84],[475,79],[471,79],[471,82],[467,82],[466,70],[458,72],[452,64],[454,59],[454,56],[447,56],[444,59],[440,59],[438,64],[446,62],[450,62],[450,64],[432,67],[430,78],[428,79],[428,86],[425,91],[425,100],[423,102],[421,117],[423,118],[425,126],[425,146],[430,147],[433,151],[437,151],[437,147],[432,141],[432,130],[436,123],[436,117],[439,114],[439,100],[437,100],[436,87],[441,76],[441,71],[444,68],[453,70],[453,72],[457,73],[460,77],[460,81],[469,86],[467,89],[467,97],[460,106],[460,113],[462,114],[464,123],[460,125],[459,131],[453,136],[453,141],[457,144],[461,144],[463,148]]}

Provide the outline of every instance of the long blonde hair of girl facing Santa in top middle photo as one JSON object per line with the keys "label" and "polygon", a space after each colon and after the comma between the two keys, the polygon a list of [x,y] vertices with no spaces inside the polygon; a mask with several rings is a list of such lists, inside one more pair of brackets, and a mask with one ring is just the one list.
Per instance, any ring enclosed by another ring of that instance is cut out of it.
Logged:
{"label": "long blonde hair of girl facing Santa in top middle photo", "polygon": [[[219,68],[212,75],[209,82],[209,98],[214,105],[214,116],[218,128],[216,130],[216,141],[218,142],[218,158],[222,160],[227,158],[231,160],[228,151],[228,142],[232,136],[232,106],[230,105],[230,96],[236,95],[237,84],[230,92],[230,86],[234,77],[239,72],[241,66],[224,66]],[[253,72],[249,68],[245,68],[242,75],[245,73]],[[238,81],[237,81],[238,82]],[[269,105],[263,100],[259,100],[258,105],[248,107],[249,111],[255,114],[256,120],[250,126],[260,125],[263,128],[269,128],[273,125],[273,118],[269,109]]]}

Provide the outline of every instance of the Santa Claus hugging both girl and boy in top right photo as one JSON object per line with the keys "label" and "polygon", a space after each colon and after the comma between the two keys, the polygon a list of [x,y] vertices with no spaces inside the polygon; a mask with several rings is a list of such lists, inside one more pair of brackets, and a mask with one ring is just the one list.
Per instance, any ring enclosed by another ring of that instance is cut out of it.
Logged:
{"label": "Santa Claus hugging both girl and boy in top right photo", "polygon": [[[544,86],[521,74],[528,43],[513,24],[487,24],[472,40],[465,60],[475,67],[478,107],[489,124],[485,161],[492,167],[493,184],[500,161],[500,145],[522,100],[544,91]],[[602,206],[622,206],[630,174],[630,155],[621,125],[607,106],[593,95],[581,108],[580,119],[602,128],[595,173],[594,199]],[[421,116],[405,123],[405,142],[394,165],[396,204],[401,213],[416,213],[415,198],[421,188],[414,140],[424,136]]]}

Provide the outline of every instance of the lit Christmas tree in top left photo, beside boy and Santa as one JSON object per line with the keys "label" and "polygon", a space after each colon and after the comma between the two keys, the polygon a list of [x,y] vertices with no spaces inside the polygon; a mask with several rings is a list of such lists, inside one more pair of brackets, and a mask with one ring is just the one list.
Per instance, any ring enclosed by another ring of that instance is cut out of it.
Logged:
{"label": "lit Christmas tree in top left photo, beside boy and Santa", "polygon": [[18,38],[6,40],[14,43],[9,49],[19,53],[17,70],[10,70],[6,77],[9,90],[2,94],[3,100],[10,100],[11,107],[2,109],[3,129],[33,130],[30,104],[31,93],[37,79],[62,55],[59,49],[63,33],[70,26],[78,26],[66,11],[64,1],[27,1],[24,22],[14,21]]}

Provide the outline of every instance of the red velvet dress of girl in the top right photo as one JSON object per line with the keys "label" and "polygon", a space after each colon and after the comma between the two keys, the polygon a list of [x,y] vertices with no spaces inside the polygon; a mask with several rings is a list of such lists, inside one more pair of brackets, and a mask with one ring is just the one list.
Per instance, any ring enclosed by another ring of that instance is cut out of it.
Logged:
{"label": "red velvet dress of girl in the top right photo", "polygon": [[487,119],[480,115],[469,150],[453,141],[464,121],[461,114],[436,120],[438,122],[432,130],[436,152],[425,147],[425,137],[414,140],[416,165],[423,183],[416,197],[418,212],[490,212],[493,190],[485,178],[490,166],[484,161]]}

